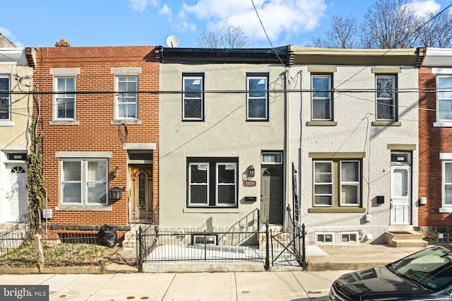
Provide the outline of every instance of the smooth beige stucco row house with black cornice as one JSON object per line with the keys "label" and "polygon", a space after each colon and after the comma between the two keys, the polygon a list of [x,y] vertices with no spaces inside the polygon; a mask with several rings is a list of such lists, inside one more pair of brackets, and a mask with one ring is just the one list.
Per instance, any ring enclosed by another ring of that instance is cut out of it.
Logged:
{"label": "smooth beige stucco row house with black cornice", "polygon": [[161,49],[160,228],[283,224],[289,48]]}

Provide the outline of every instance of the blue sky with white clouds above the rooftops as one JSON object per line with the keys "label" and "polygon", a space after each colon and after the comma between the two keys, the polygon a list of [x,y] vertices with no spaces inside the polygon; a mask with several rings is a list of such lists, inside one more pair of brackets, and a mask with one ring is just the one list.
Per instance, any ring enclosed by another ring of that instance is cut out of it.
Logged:
{"label": "blue sky with white clouds above the rooftops", "polygon": [[[362,20],[374,0],[253,0],[273,46],[305,46],[321,35],[333,13]],[[0,33],[18,47],[163,45],[197,47],[205,28],[242,25],[248,47],[270,47],[251,0],[13,0],[0,6]],[[419,13],[452,0],[413,0]]]}

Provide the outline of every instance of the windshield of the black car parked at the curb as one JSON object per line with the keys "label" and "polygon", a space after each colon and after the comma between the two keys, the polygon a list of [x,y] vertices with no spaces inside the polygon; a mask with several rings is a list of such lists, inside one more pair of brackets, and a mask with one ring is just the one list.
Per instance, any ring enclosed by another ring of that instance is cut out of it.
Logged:
{"label": "windshield of the black car parked at the curb", "polygon": [[395,261],[393,271],[429,290],[441,290],[452,283],[452,254],[432,247]]}

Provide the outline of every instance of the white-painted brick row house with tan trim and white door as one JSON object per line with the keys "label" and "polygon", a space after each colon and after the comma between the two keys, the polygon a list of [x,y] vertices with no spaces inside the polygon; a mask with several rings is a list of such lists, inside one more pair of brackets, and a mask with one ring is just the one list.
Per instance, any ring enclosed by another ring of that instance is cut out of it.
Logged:
{"label": "white-painted brick row house with tan trim and white door", "polygon": [[384,243],[417,225],[420,50],[295,47],[287,156],[309,244]]}

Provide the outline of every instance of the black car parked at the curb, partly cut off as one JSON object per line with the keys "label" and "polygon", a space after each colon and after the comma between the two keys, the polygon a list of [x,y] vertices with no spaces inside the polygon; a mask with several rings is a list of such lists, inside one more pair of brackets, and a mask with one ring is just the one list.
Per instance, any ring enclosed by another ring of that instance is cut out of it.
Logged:
{"label": "black car parked at the curb, partly cut off", "polygon": [[452,252],[429,247],[386,266],[347,273],[331,285],[330,300],[452,301]]}

